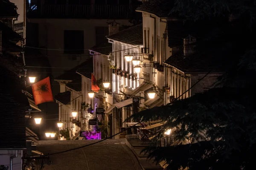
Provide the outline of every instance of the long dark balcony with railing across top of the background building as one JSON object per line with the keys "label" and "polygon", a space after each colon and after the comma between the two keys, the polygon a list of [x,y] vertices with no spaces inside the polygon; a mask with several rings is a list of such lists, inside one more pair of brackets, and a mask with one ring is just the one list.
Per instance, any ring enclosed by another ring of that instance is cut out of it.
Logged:
{"label": "long dark balcony with railing across top of the background building", "polygon": [[128,19],[135,13],[135,6],[105,4],[30,4],[30,18],[99,18]]}

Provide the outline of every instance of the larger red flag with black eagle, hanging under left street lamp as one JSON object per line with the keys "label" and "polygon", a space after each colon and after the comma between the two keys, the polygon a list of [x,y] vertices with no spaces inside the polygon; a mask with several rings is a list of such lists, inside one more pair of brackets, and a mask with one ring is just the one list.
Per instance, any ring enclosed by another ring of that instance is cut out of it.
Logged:
{"label": "larger red flag with black eagle, hanging under left street lamp", "polygon": [[50,78],[47,77],[32,85],[35,104],[39,105],[44,102],[53,102]]}

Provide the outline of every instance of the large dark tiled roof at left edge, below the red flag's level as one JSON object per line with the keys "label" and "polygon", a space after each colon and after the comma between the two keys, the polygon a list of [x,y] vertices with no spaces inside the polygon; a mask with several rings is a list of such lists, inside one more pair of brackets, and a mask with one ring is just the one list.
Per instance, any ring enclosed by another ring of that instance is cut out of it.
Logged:
{"label": "large dark tiled roof at left edge, below the red flag's level", "polygon": [[29,102],[21,92],[20,79],[12,71],[0,66],[0,149],[26,148],[25,114]]}

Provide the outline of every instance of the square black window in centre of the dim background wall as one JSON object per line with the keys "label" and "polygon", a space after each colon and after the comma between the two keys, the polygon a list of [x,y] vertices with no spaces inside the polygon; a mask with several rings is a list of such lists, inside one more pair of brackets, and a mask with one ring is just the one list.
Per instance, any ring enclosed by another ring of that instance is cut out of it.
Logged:
{"label": "square black window in centre of the dim background wall", "polygon": [[64,30],[64,53],[84,54],[84,31]]}

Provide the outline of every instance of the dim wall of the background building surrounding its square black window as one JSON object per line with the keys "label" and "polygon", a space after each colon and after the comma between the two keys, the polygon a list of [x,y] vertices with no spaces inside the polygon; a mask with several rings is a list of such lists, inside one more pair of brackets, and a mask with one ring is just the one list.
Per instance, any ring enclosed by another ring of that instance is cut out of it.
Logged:
{"label": "dim wall of the background building surrounding its square black window", "polygon": [[[81,64],[90,57],[89,49],[96,45],[96,27],[108,27],[108,22],[113,20],[106,19],[40,19],[30,18],[30,23],[38,23],[39,47],[55,49],[41,50],[42,54],[48,56],[52,67],[53,76],[56,77],[76,65]],[[131,25],[128,20],[116,20],[122,25]],[[70,60],[70,54],[64,54],[64,30],[84,30],[84,54],[77,57],[76,60]]]}

